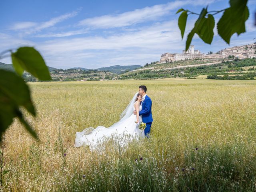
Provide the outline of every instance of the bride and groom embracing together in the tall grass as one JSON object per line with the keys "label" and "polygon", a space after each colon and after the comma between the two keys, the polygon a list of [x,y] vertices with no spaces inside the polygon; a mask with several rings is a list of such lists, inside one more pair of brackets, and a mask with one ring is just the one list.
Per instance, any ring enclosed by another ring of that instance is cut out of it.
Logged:
{"label": "bride and groom embracing together in the tall grass", "polygon": [[[133,96],[126,109],[122,112],[120,120],[112,126],[108,128],[98,126],[95,129],[89,127],[82,132],[76,132],[75,146],[88,145],[93,150],[101,141],[111,136],[128,135],[135,139],[144,138],[145,136],[148,138],[153,118],[151,112],[152,100],[146,92],[146,86],[139,86],[139,92]],[[138,128],[140,122],[146,123],[144,130]]]}

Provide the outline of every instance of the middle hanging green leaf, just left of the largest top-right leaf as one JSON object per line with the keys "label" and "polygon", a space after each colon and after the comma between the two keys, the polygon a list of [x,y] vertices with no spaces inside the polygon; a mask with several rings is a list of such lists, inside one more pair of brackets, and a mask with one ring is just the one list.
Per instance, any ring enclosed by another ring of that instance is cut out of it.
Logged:
{"label": "middle hanging green leaf, just left of the largest top-right leaf", "polygon": [[214,17],[211,14],[208,14],[208,18],[202,18],[201,24],[198,25],[196,33],[198,36],[207,44],[212,43],[213,39],[213,28],[215,25]]}

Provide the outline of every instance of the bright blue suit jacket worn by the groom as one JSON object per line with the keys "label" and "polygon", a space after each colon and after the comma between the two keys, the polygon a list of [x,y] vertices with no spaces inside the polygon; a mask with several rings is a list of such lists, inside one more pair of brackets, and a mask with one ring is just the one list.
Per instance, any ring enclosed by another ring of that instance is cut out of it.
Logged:
{"label": "bright blue suit jacket worn by the groom", "polygon": [[151,112],[152,101],[148,95],[146,95],[145,100],[142,102],[142,110],[140,115],[142,115],[142,121],[144,123],[149,123],[153,121]]}

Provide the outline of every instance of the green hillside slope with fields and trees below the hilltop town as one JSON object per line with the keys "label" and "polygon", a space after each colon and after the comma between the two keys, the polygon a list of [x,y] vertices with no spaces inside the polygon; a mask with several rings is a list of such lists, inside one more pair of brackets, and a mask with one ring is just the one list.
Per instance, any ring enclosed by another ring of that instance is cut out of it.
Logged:
{"label": "green hillside slope with fields and trees below the hilltop town", "polygon": [[[208,78],[226,80],[254,80],[256,77],[256,58],[235,59],[205,64],[190,63],[191,66],[150,67],[126,72],[121,79],[157,79],[157,78]],[[174,65],[175,63],[171,63]],[[171,65],[170,64],[170,65]]]}

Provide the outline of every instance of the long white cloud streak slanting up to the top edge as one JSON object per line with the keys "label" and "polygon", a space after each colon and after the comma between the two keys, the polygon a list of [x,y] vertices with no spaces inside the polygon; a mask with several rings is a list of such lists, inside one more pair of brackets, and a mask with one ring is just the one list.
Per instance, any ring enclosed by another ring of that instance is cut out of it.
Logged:
{"label": "long white cloud streak slanting up to the top edge", "polygon": [[130,26],[136,23],[157,20],[161,16],[169,14],[170,10],[177,9],[185,5],[207,5],[212,2],[214,2],[214,0],[176,0],[167,4],[158,4],[152,7],[145,7],[142,9],[136,9],[134,11],[124,12],[122,14],[87,18],[81,20],[78,25],[92,28],[115,28]]}

